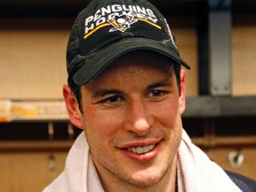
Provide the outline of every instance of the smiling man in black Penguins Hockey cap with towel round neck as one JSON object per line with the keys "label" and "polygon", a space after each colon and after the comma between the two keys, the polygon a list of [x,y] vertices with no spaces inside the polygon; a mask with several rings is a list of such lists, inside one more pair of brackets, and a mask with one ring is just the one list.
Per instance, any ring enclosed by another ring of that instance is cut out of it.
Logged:
{"label": "smiling man in black Penguins Hockey cap with towel round neck", "polygon": [[67,65],[63,95],[68,115],[84,132],[70,149],[65,170],[44,191],[255,187],[252,180],[228,176],[183,131],[181,66],[189,66],[152,4],[92,1],[72,28]]}

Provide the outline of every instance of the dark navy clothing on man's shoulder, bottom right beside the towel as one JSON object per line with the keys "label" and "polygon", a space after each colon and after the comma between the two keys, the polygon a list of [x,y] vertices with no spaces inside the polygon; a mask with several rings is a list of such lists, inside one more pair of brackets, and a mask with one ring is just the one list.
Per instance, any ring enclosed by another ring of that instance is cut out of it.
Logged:
{"label": "dark navy clothing on man's shoulder, bottom right beside the towel", "polygon": [[225,171],[229,178],[236,183],[242,191],[244,192],[255,192],[256,191],[256,180],[252,180],[244,175],[238,174],[236,172]]}

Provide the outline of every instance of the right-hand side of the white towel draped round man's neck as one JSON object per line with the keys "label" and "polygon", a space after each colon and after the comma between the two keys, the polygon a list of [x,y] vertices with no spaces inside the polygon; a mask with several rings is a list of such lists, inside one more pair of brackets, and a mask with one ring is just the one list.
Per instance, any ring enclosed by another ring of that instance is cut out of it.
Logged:
{"label": "right-hand side of the white towel draped round man's neck", "polygon": [[183,130],[178,152],[179,192],[241,191],[218,164],[197,148]]}

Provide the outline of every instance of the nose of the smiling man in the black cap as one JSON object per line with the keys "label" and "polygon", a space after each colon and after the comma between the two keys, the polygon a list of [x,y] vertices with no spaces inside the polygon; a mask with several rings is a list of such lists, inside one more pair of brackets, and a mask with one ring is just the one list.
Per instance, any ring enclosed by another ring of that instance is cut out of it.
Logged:
{"label": "nose of the smiling man in the black cap", "polygon": [[148,106],[142,100],[133,101],[127,109],[125,130],[144,136],[153,124],[154,119]]}

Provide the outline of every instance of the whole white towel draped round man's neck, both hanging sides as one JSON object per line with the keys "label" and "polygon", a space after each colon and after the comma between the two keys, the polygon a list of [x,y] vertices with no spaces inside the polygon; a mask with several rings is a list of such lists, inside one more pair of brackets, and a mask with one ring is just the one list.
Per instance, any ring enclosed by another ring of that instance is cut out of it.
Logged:
{"label": "whole white towel draped round man's neck, both hanging sides", "polygon": [[[177,178],[179,192],[241,191],[219,165],[197,148],[183,131],[178,153]],[[65,169],[44,188],[44,192],[103,192],[92,163],[89,147],[82,132],[70,149]]]}

